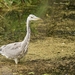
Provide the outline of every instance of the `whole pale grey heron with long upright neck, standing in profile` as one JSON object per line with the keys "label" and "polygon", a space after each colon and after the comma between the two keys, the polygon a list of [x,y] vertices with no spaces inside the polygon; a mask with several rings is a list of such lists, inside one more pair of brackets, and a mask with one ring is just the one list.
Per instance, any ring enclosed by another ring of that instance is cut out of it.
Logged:
{"label": "whole pale grey heron with long upright neck, standing in profile", "polygon": [[19,60],[24,55],[26,55],[28,51],[28,44],[30,41],[30,34],[31,34],[29,23],[32,20],[40,20],[40,18],[33,14],[30,14],[27,17],[27,21],[26,21],[27,32],[26,32],[26,36],[23,41],[10,43],[10,44],[3,45],[0,47],[0,54],[5,56],[8,59],[14,60],[16,64],[18,64]]}

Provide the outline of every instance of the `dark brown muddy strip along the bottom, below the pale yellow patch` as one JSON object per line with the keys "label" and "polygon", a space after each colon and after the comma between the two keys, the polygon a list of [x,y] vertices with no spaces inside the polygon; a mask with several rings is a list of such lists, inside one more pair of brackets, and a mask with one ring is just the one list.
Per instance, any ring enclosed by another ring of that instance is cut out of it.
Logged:
{"label": "dark brown muddy strip along the bottom, below the pale yellow patch", "polygon": [[[75,75],[73,57],[61,60],[34,60],[19,63],[19,65],[3,64],[0,66],[1,75]],[[1,63],[0,63],[1,64]]]}

